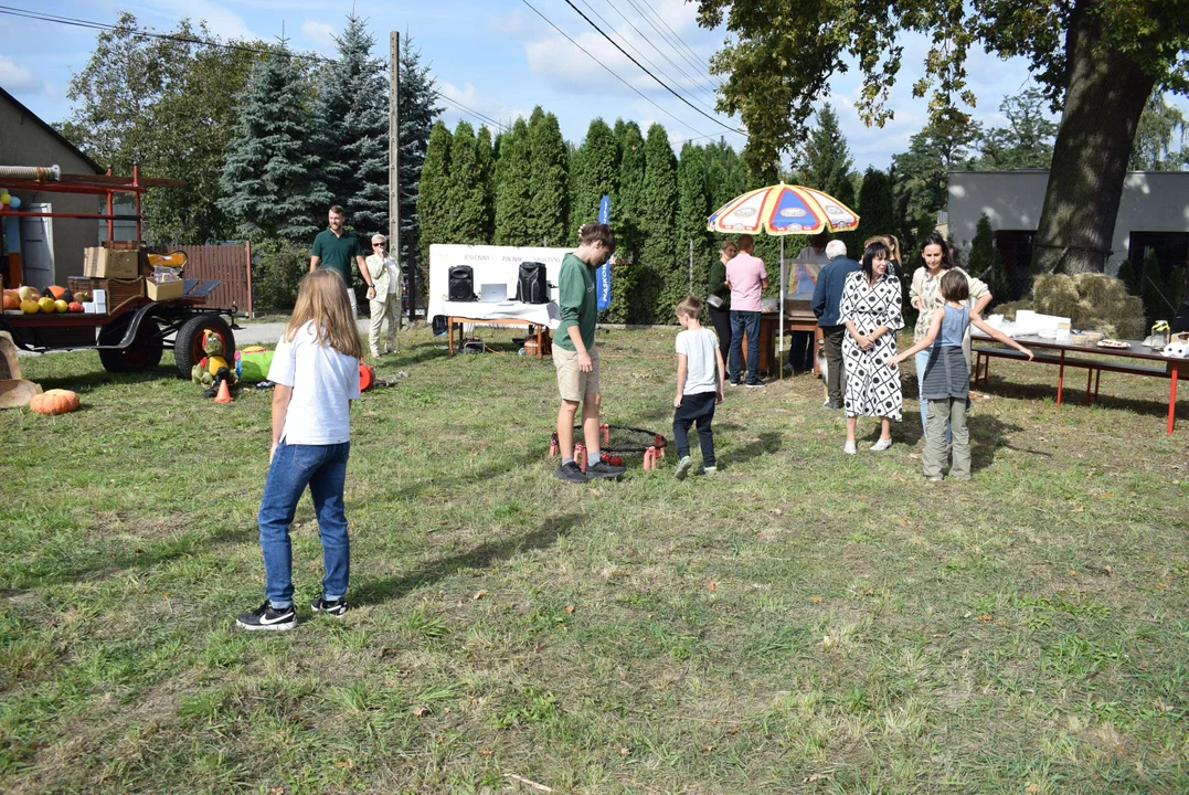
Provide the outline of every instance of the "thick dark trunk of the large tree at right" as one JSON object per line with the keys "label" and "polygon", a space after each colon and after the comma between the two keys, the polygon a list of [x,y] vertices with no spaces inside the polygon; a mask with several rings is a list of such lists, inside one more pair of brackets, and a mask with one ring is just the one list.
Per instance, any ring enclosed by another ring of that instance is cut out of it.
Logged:
{"label": "thick dark trunk of the large tree at right", "polygon": [[1101,52],[1097,0],[1081,0],[1065,39],[1069,88],[1053,145],[1032,272],[1097,272],[1111,254],[1127,159],[1155,78],[1131,58]]}

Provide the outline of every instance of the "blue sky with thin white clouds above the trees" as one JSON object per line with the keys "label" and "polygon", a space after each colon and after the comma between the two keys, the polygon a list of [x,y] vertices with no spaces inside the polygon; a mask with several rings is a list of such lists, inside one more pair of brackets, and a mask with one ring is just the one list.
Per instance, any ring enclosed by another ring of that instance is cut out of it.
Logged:
{"label": "blue sky with thin white clouds above the trees", "polygon": [[[687,138],[717,137],[721,133],[736,149],[742,147],[741,135],[723,130],[653,83],[574,13],[565,0],[529,1],[663,111],[634,94],[583,55],[521,0],[401,0],[359,2],[354,7],[359,15],[369,20],[369,27],[378,39],[377,50],[386,50],[388,31],[408,31],[424,62],[432,67],[439,90],[492,119],[507,122],[518,114],[528,115],[534,106],[541,105],[558,115],[562,134],[575,143],[581,141],[591,119],[603,116],[614,121],[622,116],[635,119],[641,126],[660,121],[675,146]],[[690,61],[704,67],[709,56],[721,46],[725,33],[699,29],[694,5],[684,0],[575,0],[575,5],[602,26],[603,23],[587,8],[600,14],[668,72],[674,87],[688,90],[692,100],[712,107],[707,92],[713,84],[709,75],[703,70],[703,82],[697,84],[699,72],[694,64],[680,58],[674,49],[662,45],[660,36],[650,26],[656,25],[667,33],[660,21],[663,20],[690,48],[685,51]],[[309,0],[64,0],[25,7],[102,23],[114,21],[120,11],[130,11],[141,26],[156,31],[169,31],[180,19],[189,17],[193,20],[205,19],[215,34],[224,37],[271,39],[282,34],[283,26],[295,49],[331,56],[334,53],[331,37],[342,29],[352,4]],[[656,15],[646,18],[646,8],[655,11]],[[646,42],[641,33],[649,40]],[[70,113],[70,100],[67,97],[70,76],[86,64],[94,42],[94,31],[0,15],[0,86],[43,119],[62,120]],[[913,99],[911,86],[923,71],[919,61],[913,58],[926,50],[924,39],[906,43],[905,52],[908,55],[889,101],[895,118],[882,130],[863,126],[854,112],[851,99],[857,96],[860,82],[854,70],[836,75],[831,81],[829,101],[839,112],[855,165],[860,170],[867,165],[886,168],[892,154],[906,150],[908,138],[924,125],[926,101]],[[688,77],[679,74],[674,63]],[[1018,93],[1028,81],[1025,61],[1001,61],[981,51],[971,53],[969,75],[979,97],[975,116],[992,125],[1002,122],[996,113],[1002,97]],[[480,124],[457,109],[445,114],[451,126],[459,118]],[[729,119],[724,121],[735,126]]]}

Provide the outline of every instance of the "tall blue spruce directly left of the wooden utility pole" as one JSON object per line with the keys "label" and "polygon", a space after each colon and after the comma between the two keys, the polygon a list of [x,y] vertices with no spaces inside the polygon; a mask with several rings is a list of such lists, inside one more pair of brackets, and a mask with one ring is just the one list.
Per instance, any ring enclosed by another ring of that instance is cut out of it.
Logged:
{"label": "tall blue spruce directly left of the wooden utility pole", "polygon": [[317,146],[334,203],[364,234],[388,233],[388,80],[376,39],[352,12],[334,37],[336,61],[322,70]]}

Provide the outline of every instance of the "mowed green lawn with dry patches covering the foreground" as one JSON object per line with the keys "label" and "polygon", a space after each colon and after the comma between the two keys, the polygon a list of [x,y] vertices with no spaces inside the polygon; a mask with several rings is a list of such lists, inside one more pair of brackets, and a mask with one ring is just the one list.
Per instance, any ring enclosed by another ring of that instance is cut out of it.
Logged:
{"label": "mowed green lawn with dry patches covering the foreground", "polygon": [[[307,498],[289,633],[234,626],[271,393],[21,360],[83,408],[0,414],[0,790],[1189,791],[1168,381],[1058,408],[1055,368],[996,361],[974,481],[939,485],[911,365],[880,454],[812,378],[729,389],[717,479],[575,487],[551,361],[402,340],[353,411],[354,610],[310,616]],[[671,436],[673,332],[599,341],[605,419]]]}

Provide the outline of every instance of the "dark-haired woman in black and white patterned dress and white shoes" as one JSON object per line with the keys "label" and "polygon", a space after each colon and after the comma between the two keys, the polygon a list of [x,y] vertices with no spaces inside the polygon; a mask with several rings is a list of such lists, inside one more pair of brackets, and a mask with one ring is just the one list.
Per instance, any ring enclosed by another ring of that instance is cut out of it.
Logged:
{"label": "dark-haired woman in black and white patterned dress and white shoes", "polygon": [[855,454],[858,417],[879,417],[880,440],[873,450],[892,447],[892,419],[900,421],[900,372],[886,366],[895,355],[895,332],[904,326],[900,282],[888,272],[888,247],[873,242],[863,251],[863,270],[847,277],[838,305],[847,326],[842,360],[847,370],[847,447]]}

